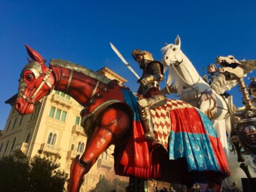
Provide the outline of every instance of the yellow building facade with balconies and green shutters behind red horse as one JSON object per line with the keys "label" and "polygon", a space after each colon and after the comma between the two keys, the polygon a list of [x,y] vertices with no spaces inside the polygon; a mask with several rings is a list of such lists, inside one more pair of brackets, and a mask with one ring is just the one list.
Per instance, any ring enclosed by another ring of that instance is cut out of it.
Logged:
{"label": "yellow building facade with balconies and green shutters behind red horse", "polygon": [[[118,79],[124,83],[126,79],[109,68],[97,71],[107,78]],[[79,105],[69,95],[59,91],[52,91],[50,95],[36,103],[33,114],[21,116],[14,107],[15,96],[6,101],[12,108],[6,126],[0,132],[0,157],[9,156],[15,150],[21,150],[29,158],[38,151],[60,156],[60,169],[70,172],[72,160],[85,149],[87,136],[80,126]],[[85,175],[80,191],[89,191],[94,188],[100,178],[108,180],[119,178],[128,182],[129,178],[114,174],[113,146],[98,158],[94,166]]]}

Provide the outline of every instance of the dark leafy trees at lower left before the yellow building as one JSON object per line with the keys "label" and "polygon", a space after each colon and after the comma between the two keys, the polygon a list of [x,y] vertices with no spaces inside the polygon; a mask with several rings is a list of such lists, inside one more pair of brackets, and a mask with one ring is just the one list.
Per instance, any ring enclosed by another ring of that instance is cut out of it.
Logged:
{"label": "dark leafy trees at lower left before the yellow building", "polygon": [[57,158],[39,154],[27,159],[20,151],[0,159],[0,191],[65,191],[66,174]]}

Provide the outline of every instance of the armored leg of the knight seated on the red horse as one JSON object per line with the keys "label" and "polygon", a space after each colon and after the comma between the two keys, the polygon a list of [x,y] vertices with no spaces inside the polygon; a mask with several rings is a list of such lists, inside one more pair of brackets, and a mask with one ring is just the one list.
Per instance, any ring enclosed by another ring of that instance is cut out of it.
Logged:
{"label": "armored leg of the knight seated on the red horse", "polygon": [[157,108],[166,104],[167,98],[164,95],[153,95],[149,98],[143,98],[138,100],[138,107],[140,109],[140,116],[142,118],[142,124],[145,130],[145,139],[150,142],[155,142],[153,131],[153,121],[151,118],[150,109]]}

